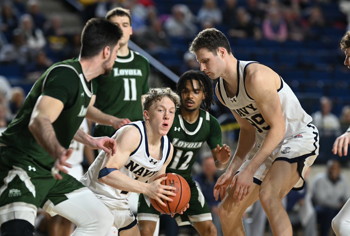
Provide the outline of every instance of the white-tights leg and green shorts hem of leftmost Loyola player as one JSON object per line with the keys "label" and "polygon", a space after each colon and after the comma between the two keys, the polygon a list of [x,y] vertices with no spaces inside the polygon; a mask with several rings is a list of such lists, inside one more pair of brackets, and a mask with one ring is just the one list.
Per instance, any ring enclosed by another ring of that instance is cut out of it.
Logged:
{"label": "white-tights leg and green shorts hem of leftmost Loyola player", "polygon": [[77,226],[74,236],[105,235],[113,224],[111,211],[82,183],[61,175],[63,179],[50,189],[42,209],[73,222]]}

